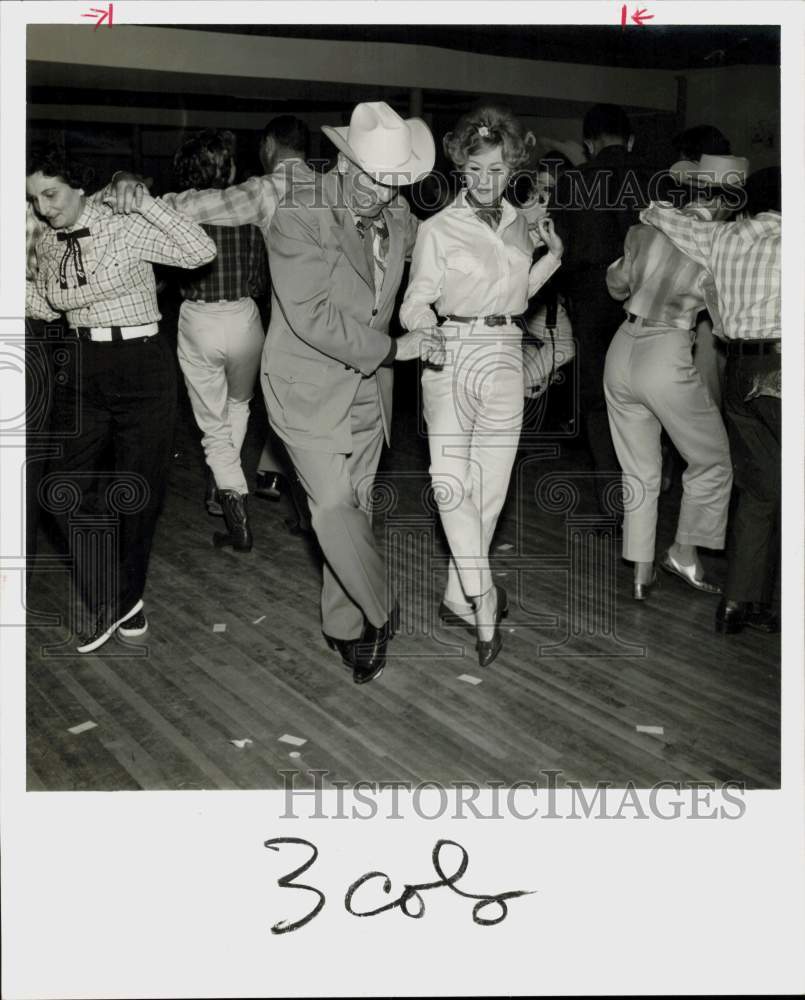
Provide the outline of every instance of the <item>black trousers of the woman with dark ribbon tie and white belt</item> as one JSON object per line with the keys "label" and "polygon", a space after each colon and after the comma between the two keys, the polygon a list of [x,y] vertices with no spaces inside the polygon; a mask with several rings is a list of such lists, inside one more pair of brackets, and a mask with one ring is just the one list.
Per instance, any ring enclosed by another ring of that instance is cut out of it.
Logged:
{"label": "black trousers of the woman with dark ribbon tie and white belt", "polygon": [[65,539],[89,610],[125,612],[145,587],[176,419],[173,354],[159,335],[78,343],[75,377],[57,387],[60,437],[45,497]]}

